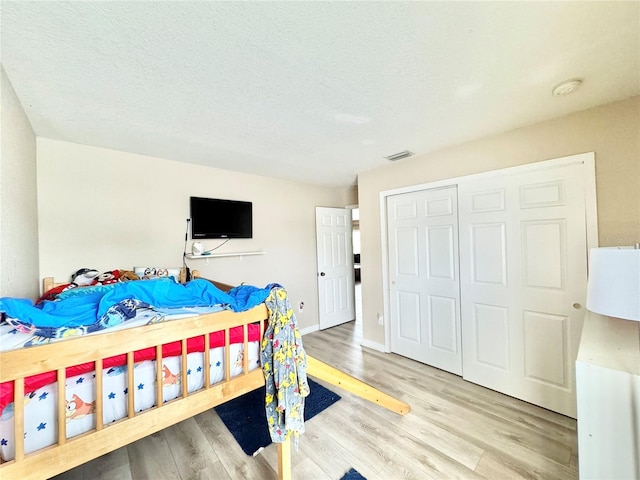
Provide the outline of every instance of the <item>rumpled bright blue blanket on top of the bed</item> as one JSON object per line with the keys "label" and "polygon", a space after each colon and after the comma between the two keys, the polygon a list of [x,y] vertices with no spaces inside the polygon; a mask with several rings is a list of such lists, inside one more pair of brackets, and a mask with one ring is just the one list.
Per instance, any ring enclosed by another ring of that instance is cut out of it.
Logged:
{"label": "rumpled bright blue blanket on top of the bed", "polygon": [[271,288],[243,285],[228,293],[211,282],[195,279],[186,284],[173,278],[125,282],[107,291],[72,296],[59,301],[34,305],[31,300],[0,298],[0,312],[13,319],[23,331],[50,338],[61,332],[90,333],[117,325],[135,317],[138,308],[209,307],[221,305],[235,312],[263,303]]}

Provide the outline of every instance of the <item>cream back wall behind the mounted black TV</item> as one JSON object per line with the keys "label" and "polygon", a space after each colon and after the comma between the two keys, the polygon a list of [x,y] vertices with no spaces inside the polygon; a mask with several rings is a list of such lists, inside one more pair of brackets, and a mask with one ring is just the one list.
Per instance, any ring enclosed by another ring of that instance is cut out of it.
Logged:
{"label": "cream back wall behind the mounted black TV", "polygon": [[[231,284],[282,284],[301,328],[318,323],[315,207],[344,206],[352,189],[327,188],[38,138],[40,274],[68,279],[82,267],[179,267],[189,197],[253,202],[253,239],[217,252],[265,255],[189,260]],[[188,241],[188,250],[192,240]],[[220,244],[205,240],[207,248]],[[296,309],[297,312],[297,309]]]}

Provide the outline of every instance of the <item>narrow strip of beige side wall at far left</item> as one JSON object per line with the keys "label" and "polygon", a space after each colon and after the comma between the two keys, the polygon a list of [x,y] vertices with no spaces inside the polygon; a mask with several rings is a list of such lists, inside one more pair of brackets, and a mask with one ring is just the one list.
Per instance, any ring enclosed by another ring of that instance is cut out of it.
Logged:
{"label": "narrow strip of beige side wall at far left", "polygon": [[4,68],[0,70],[0,296],[36,298],[36,137]]}

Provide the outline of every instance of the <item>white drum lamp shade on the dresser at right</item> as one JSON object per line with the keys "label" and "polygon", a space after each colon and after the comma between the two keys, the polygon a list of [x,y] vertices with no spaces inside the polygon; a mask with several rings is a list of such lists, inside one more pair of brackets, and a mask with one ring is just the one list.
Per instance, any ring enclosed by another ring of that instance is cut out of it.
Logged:
{"label": "white drum lamp shade on the dresser at right", "polygon": [[632,247],[591,249],[587,309],[640,322],[640,250]]}

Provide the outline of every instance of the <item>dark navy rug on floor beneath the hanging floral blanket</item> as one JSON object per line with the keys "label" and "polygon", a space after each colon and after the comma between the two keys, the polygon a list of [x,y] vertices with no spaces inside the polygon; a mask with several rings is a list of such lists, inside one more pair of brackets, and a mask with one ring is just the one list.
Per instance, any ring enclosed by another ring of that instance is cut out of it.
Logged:
{"label": "dark navy rug on floor beneath the hanging floral blanket", "polygon": [[[340,400],[340,396],[310,378],[311,393],[305,399],[304,419],[310,420],[322,410]],[[265,391],[258,388],[215,407],[226,427],[249,456],[271,443],[264,407]],[[353,480],[358,477],[353,477]],[[362,478],[362,477],[360,477]]]}

